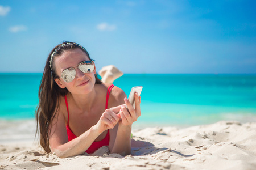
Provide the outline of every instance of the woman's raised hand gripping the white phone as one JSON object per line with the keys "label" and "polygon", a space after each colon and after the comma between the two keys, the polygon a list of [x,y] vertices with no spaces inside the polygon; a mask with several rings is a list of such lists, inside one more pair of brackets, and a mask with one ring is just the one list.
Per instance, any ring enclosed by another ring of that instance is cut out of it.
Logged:
{"label": "woman's raised hand gripping the white phone", "polygon": [[130,126],[133,124],[133,122],[137,121],[138,117],[141,116],[141,96],[138,95],[137,92],[134,94],[135,99],[135,109],[133,108],[133,105],[131,105],[130,101],[125,98],[125,105],[121,106],[121,109],[119,113],[117,114],[119,118],[122,120],[119,121],[119,126]]}

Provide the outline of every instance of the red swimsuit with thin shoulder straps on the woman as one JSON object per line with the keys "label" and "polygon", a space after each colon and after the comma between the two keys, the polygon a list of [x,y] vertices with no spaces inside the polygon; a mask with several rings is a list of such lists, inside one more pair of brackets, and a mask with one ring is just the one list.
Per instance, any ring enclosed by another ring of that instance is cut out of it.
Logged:
{"label": "red swimsuit with thin shoulder straps on the woman", "polygon": [[[105,109],[108,109],[108,101],[109,101],[109,95],[110,95],[110,91],[112,90],[112,88],[114,87],[114,85],[112,84],[111,86],[109,86],[108,91],[107,91],[107,95],[106,95],[106,107]],[[67,100],[67,96],[65,96],[65,102],[66,102],[66,107],[68,110],[68,100]],[[69,122],[69,112],[68,112],[68,122]],[[67,133],[68,133],[68,141],[71,141],[72,139],[76,138],[76,135],[73,134],[72,130],[69,127],[69,124],[67,122]],[[88,154],[92,154],[93,152],[95,152],[98,148],[102,147],[102,146],[108,146],[109,145],[109,130],[108,133],[106,134],[106,137],[104,139],[102,139],[101,141],[94,141],[92,143],[92,145],[90,145],[90,147],[88,148],[88,150],[86,150],[86,152]]]}

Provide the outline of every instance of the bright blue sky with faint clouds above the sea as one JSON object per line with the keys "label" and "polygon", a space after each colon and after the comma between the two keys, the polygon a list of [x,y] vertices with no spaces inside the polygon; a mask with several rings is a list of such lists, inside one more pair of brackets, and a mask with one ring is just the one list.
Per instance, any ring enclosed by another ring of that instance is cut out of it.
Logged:
{"label": "bright blue sky with faint clouds above the sea", "polygon": [[256,73],[255,1],[0,1],[0,72],[42,73],[63,41],[97,70]]}

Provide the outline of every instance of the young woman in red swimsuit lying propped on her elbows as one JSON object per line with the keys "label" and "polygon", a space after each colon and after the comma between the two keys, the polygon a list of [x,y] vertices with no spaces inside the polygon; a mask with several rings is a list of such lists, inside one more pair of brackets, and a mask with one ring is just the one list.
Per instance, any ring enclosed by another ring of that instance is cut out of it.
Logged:
{"label": "young woman in red swimsuit lying propped on her elbows", "polygon": [[47,58],[39,88],[40,145],[60,158],[91,154],[101,146],[129,155],[131,125],[141,116],[141,98],[136,93],[134,97],[135,108],[120,88],[102,83],[81,45],[57,45]]}

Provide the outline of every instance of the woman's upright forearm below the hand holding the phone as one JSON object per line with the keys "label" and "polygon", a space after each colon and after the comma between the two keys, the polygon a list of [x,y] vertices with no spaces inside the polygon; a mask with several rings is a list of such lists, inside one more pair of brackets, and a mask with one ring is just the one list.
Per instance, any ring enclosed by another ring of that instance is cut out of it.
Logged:
{"label": "woman's upright forearm below the hand holding the phone", "polygon": [[122,156],[131,154],[131,125],[118,126],[117,137],[110,152],[118,153]]}

